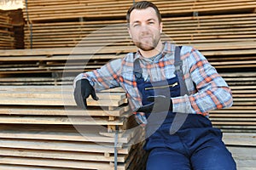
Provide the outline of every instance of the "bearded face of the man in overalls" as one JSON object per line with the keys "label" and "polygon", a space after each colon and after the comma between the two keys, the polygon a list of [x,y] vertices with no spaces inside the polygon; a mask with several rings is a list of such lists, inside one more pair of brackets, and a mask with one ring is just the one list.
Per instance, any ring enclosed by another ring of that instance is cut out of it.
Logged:
{"label": "bearded face of the man in overalls", "polygon": [[150,51],[160,42],[162,23],[154,8],[134,9],[131,11],[128,31],[137,48]]}

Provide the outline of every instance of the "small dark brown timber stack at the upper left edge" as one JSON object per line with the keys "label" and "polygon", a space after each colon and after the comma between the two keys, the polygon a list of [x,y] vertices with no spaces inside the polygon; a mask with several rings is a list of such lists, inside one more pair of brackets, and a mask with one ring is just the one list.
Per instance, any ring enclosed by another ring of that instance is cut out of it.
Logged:
{"label": "small dark brown timber stack at the upper left edge", "polygon": [[0,10],[0,49],[15,48],[14,30],[11,22],[9,15]]}

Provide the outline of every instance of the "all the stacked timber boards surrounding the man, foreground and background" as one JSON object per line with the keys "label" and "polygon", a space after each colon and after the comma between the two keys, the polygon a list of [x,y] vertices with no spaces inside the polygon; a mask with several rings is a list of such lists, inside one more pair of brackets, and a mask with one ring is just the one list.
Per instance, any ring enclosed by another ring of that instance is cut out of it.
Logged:
{"label": "all the stacked timber boards surrounding the man, foreground and background", "polygon": [[[256,2],[153,2],[162,13],[163,39],[199,49],[230,85],[234,105],[211,111],[210,119],[223,131],[238,169],[256,169]],[[132,128],[125,93],[102,92],[89,111],[79,111],[72,97],[79,72],[136,51],[125,27],[132,1],[24,4],[15,11],[22,19],[14,11],[1,19],[0,169],[113,169],[115,163],[143,169],[142,129]],[[24,37],[15,33],[23,26]]]}

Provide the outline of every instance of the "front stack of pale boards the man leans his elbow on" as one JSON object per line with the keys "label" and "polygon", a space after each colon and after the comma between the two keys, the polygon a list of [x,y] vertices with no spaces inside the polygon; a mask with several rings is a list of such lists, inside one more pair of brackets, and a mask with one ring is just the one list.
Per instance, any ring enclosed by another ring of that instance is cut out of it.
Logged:
{"label": "front stack of pale boards the man leans his elbow on", "polygon": [[0,167],[143,169],[143,129],[134,126],[125,93],[97,95],[82,111],[71,86],[2,86]]}

